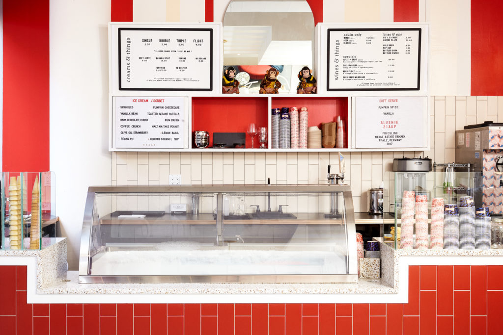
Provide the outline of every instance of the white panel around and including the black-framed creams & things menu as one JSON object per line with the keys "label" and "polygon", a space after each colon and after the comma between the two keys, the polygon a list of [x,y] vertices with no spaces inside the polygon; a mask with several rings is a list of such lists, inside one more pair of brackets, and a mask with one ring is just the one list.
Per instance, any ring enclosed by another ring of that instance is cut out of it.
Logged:
{"label": "white panel around and including the black-framed creams & things menu", "polygon": [[112,95],[218,92],[220,28],[215,23],[110,23]]}

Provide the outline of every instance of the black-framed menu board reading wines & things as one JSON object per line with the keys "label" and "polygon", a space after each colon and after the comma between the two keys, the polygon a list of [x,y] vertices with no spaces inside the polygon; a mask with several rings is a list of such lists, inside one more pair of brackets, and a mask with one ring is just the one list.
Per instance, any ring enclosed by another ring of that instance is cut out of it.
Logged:
{"label": "black-framed menu board reading wines & things", "polygon": [[327,29],[326,90],[421,87],[423,28]]}

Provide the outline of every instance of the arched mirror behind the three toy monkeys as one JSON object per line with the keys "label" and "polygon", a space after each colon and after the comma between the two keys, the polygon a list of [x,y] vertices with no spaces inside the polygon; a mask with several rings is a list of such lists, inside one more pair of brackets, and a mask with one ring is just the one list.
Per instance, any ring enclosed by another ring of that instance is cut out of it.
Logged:
{"label": "arched mirror behind the three toy monkeys", "polygon": [[312,69],[314,18],[305,0],[232,0],[223,20],[223,38],[223,81],[225,70],[233,69],[239,81],[234,93],[259,93],[272,67],[281,82],[277,93],[295,94],[300,69]]}

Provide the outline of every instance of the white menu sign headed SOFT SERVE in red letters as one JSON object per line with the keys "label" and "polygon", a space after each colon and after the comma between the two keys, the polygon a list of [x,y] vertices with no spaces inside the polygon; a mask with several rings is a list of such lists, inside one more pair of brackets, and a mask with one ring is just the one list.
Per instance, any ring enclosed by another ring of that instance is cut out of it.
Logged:
{"label": "white menu sign headed SOFT SERVE in red letters", "polygon": [[353,97],[352,148],[427,148],[427,104],[426,96]]}

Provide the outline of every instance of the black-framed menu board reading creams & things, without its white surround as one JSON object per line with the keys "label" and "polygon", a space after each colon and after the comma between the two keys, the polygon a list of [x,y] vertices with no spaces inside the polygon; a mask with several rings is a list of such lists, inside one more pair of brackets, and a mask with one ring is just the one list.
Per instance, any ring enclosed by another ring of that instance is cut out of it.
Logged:
{"label": "black-framed menu board reading creams & things, without its white surround", "polygon": [[118,28],[118,89],[211,91],[213,35],[213,28]]}

